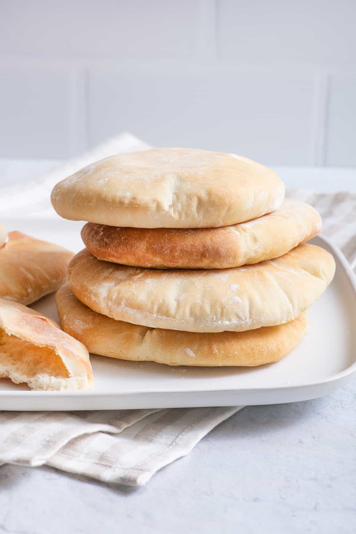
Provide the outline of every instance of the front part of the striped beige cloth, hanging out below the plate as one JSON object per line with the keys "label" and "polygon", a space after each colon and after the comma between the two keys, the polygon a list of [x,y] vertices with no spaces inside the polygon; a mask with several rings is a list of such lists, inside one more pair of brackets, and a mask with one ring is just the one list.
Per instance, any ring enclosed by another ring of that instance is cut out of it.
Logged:
{"label": "front part of the striped beige cloth, hanging out below the plate", "polygon": [[48,465],[143,485],[242,407],[0,412],[0,465]]}

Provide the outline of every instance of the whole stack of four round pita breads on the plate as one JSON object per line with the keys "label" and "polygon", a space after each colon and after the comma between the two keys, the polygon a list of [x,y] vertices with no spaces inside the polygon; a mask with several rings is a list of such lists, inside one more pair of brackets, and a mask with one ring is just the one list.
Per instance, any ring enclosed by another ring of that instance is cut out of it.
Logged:
{"label": "whole stack of four round pita breads on the plate", "polygon": [[57,213],[88,221],[57,293],[90,352],[169,365],[254,366],[302,341],[335,272],[305,244],[317,211],[284,200],[270,169],[234,154],[160,148],[62,180]]}

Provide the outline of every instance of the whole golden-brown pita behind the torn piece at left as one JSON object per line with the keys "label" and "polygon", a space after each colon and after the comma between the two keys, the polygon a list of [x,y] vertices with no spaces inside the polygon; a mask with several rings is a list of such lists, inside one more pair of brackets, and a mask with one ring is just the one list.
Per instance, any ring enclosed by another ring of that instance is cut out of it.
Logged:
{"label": "whole golden-brown pita behind the torn piece at left", "polygon": [[0,297],[31,304],[57,291],[67,280],[72,256],[59,245],[9,232],[9,241],[0,248]]}

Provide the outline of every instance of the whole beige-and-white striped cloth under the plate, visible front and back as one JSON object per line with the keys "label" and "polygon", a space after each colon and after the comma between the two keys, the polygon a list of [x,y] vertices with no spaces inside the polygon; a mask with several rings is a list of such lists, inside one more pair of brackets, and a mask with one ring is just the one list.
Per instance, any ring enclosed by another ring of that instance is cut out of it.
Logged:
{"label": "whole beige-and-white striped cloth under the plate, visible front and back", "polygon": [[[19,207],[24,218],[53,216],[49,195],[60,179],[110,154],[145,148],[149,146],[122,134],[53,169],[26,190],[23,185],[8,187],[1,192],[0,217],[11,218]],[[356,194],[290,190],[287,197],[317,208],[323,233],[355,267]],[[0,412],[0,465],[48,465],[103,482],[142,485],[242,407]]]}

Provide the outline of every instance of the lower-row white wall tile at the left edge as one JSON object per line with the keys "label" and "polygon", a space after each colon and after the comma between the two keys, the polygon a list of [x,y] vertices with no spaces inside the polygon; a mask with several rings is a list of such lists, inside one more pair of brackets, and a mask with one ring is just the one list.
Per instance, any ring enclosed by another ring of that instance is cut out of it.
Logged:
{"label": "lower-row white wall tile at the left edge", "polygon": [[71,87],[66,70],[2,68],[2,155],[55,157],[69,154]]}

